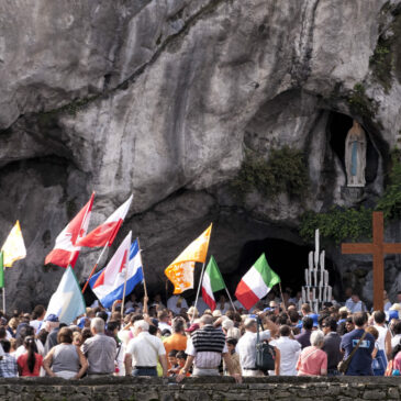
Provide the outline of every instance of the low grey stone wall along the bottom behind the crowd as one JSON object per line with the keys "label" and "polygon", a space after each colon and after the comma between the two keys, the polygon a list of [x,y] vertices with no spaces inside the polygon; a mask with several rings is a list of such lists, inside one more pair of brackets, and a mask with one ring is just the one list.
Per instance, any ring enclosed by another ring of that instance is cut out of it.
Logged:
{"label": "low grey stone wall along the bottom behind the crowd", "polygon": [[401,380],[396,377],[269,377],[247,378],[242,385],[229,377],[187,378],[180,385],[160,378],[0,379],[1,401],[396,401],[400,400],[400,390]]}

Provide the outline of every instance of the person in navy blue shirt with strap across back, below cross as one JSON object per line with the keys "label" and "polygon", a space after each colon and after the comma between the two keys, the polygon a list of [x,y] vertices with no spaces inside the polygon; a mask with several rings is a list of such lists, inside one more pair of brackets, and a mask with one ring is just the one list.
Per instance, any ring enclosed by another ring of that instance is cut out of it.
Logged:
{"label": "person in navy blue shirt with strap across back, below cross", "polygon": [[[355,323],[355,330],[350,333],[344,334],[341,342],[339,348],[344,352],[344,359],[346,359],[353,352],[354,347],[357,346],[359,339],[365,333],[365,326],[368,318],[365,312],[357,312],[353,316]],[[371,369],[371,353],[375,348],[375,337],[366,333],[364,341],[360,343],[358,349],[354,354],[346,376],[372,376]]]}

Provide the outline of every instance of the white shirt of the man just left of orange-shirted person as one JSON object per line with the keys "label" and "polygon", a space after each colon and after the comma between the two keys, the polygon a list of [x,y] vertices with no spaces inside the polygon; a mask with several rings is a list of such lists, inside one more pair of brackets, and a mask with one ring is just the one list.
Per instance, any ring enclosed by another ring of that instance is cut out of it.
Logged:
{"label": "white shirt of the man just left of orange-shirted person", "polygon": [[166,355],[166,348],[160,338],[148,332],[141,332],[130,341],[125,353],[132,355],[132,367],[156,367],[158,357]]}

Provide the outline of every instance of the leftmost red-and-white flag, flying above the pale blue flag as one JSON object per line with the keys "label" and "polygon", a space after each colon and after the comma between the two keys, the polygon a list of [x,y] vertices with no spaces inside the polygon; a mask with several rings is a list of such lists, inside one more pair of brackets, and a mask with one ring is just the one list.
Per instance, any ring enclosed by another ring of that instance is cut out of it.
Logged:
{"label": "leftmost red-and-white flag, flying above the pale blue flag", "polygon": [[94,192],[88,203],[58,234],[54,249],[46,256],[45,265],[54,264],[60,267],[70,265],[75,267],[80,250],[80,246],[76,246],[76,243],[87,235],[93,198]]}

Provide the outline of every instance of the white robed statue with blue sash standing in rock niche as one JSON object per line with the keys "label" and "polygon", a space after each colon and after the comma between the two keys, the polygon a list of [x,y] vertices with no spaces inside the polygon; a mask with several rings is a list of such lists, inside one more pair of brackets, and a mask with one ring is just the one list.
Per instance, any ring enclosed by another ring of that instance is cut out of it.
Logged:
{"label": "white robed statue with blue sash standing in rock niche", "polygon": [[347,187],[365,187],[366,134],[354,120],[353,127],[345,140],[345,169]]}

